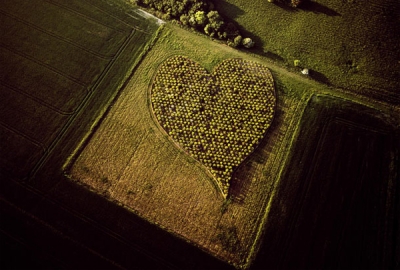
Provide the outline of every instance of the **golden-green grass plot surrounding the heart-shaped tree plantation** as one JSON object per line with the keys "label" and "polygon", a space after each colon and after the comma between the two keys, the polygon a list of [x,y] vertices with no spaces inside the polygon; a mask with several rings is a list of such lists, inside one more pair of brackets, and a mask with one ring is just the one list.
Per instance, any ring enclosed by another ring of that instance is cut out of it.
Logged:
{"label": "golden-green grass plot surrounding the heart-shaped tree plantation", "polygon": [[[149,88],[153,76],[183,45],[186,55],[200,64],[207,63],[206,57],[213,57],[217,50],[223,51],[221,60],[240,55],[196,34],[187,36],[177,27],[163,30],[69,174],[214,256],[243,266],[254,255],[275,176],[290,141],[291,132],[287,131],[293,128],[295,115],[301,114],[303,96],[280,99],[267,139],[261,140],[260,147],[235,171],[229,199],[224,199],[207,169],[177,147],[152,113]],[[192,45],[187,45],[189,39]],[[196,52],[198,44],[193,40],[207,42],[203,48],[209,52]],[[176,49],[171,50],[170,44]],[[290,91],[280,80],[276,85],[280,93]],[[251,158],[254,156],[257,158]]]}

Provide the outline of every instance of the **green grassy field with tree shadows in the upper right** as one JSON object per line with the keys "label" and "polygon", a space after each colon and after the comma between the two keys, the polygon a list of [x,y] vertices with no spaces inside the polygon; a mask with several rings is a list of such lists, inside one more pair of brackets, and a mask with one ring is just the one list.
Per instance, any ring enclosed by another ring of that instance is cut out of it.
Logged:
{"label": "green grassy field with tree shadows in the upper right", "polygon": [[258,54],[295,71],[293,61],[300,60],[314,71],[311,75],[316,80],[376,98],[384,99],[385,91],[398,93],[400,9],[396,0],[321,0],[303,9],[263,0],[222,0],[216,1],[216,7],[253,37]]}

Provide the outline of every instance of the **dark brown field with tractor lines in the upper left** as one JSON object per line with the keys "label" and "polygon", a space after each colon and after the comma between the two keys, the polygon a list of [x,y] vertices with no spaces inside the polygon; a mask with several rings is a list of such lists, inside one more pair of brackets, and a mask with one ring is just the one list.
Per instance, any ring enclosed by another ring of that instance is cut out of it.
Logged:
{"label": "dark brown field with tractor lines in the upper left", "polygon": [[2,2],[2,169],[35,173],[88,100],[116,92],[115,74],[125,77],[158,28],[136,17],[117,18],[101,1]]}

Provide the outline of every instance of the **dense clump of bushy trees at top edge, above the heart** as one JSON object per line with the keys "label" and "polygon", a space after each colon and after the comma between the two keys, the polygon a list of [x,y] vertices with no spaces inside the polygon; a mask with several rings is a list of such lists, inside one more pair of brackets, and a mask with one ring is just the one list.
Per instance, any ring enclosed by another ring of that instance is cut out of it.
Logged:
{"label": "dense clump of bushy trees at top edge, above the heart", "polygon": [[206,35],[225,40],[232,47],[251,48],[254,42],[242,38],[233,22],[226,21],[210,0],[136,0],[140,6],[161,12],[163,19],[176,20]]}

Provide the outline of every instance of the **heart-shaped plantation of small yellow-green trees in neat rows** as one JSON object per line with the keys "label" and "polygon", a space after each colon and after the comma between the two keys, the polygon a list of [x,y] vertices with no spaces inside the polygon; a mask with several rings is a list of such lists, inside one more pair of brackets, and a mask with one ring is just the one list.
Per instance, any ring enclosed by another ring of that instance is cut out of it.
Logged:
{"label": "heart-shaped plantation of small yellow-green trees in neat rows", "polygon": [[224,60],[210,74],[174,56],[161,64],[151,89],[160,125],[209,170],[225,198],[234,170],[270,126],[275,102],[269,69],[242,59]]}

